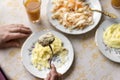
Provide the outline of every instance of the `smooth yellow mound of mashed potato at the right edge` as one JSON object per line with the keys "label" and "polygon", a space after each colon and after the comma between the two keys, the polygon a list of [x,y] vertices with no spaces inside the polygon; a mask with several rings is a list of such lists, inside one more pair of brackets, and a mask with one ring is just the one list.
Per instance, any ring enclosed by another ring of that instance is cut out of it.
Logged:
{"label": "smooth yellow mound of mashed potato at the right edge", "polygon": [[104,43],[113,48],[120,48],[120,24],[112,24],[103,34]]}

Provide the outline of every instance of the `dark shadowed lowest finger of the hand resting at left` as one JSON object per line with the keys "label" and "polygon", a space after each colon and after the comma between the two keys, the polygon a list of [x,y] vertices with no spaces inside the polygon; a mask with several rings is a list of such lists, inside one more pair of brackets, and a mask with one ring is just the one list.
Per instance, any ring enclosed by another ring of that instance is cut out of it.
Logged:
{"label": "dark shadowed lowest finger of the hand resting at left", "polygon": [[13,41],[9,41],[6,43],[2,43],[0,45],[0,48],[9,48],[9,47],[20,47],[20,42],[18,40],[13,40]]}

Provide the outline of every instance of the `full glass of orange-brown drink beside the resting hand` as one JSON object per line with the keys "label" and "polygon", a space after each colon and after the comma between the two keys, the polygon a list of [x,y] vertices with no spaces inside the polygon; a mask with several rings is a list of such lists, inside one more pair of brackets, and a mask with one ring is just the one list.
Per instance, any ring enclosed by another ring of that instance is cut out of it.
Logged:
{"label": "full glass of orange-brown drink beside the resting hand", "polygon": [[28,17],[33,23],[40,21],[41,0],[23,0]]}

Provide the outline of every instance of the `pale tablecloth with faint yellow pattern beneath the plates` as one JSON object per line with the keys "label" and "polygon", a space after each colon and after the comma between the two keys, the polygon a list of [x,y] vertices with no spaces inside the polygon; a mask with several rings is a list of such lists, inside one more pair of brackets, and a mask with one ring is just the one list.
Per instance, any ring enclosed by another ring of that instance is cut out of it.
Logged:
{"label": "pale tablecloth with faint yellow pattern beneath the plates", "polygon": [[[32,24],[27,17],[22,0],[0,0],[0,25],[22,23],[33,32],[53,29],[46,16],[49,0],[42,0],[41,23]],[[111,0],[100,0],[103,10],[113,12],[120,17],[120,9],[111,6]],[[103,16],[97,27],[90,32],[72,36],[67,35],[74,47],[75,59],[72,67],[63,76],[64,80],[119,80],[120,64],[108,60],[95,44],[95,32],[107,17]],[[56,30],[58,31],[58,30]],[[58,31],[59,32],[59,31]],[[31,75],[21,62],[21,48],[0,50],[0,66],[9,80],[41,80]]]}

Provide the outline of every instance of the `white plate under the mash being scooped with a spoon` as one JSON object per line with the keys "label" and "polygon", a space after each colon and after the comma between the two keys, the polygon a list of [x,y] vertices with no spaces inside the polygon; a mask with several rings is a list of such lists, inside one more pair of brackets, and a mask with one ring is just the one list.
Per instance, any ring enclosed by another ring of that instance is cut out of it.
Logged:
{"label": "white plate under the mash being scooped with a spoon", "polygon": [[33,33],[23,44],[22,50],[21,50],[21,56],[22,56],[22,62],[25,68],[34,76],[39,77],[39,78],[45,78],[47,73],[49,73],[49,70],[41,70],[39,71],[36,69],[32,64],[31,64],[31,55],[29,49],[33,46],[33,43],[35,43],[38,38],[47,33],[51,32],[58,38],[60,38],[64,44],[64,47],[68,50],[68,60],[62,67],[57,68],[57,71],[61,74],[64,74],[72,65],[73,59],[74,59],[74,52],[73,52],[73,47],[71,42],[62,34],[52,31],[52,30],[46,30],[46,31],[41,31],[41,32],[36,32]]}

